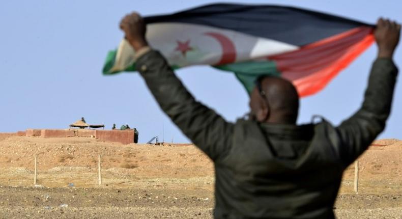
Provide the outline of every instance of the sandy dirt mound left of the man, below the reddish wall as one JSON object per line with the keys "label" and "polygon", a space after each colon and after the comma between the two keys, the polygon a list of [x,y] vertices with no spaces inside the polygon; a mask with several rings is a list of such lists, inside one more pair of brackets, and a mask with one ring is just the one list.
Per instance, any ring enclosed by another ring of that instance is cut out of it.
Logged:
{"label": "sandy dirt mound left of the man, below the reddish wall", "polygon": [[38,169],[42,171],[61,170],[62,167],[97,168],[98,155],[102,157],[104,170],[128,169],[136,176],[196,177],[213,174],[210,159],[188,144],[122,145],[91,138],[42,139],[11,135],[0,141],[0,168],[33,170],[35,156],[38,157]]}

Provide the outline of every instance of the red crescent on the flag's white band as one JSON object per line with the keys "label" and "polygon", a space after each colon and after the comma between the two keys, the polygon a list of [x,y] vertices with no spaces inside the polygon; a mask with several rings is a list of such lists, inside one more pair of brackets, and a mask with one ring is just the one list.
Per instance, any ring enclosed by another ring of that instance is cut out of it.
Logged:
{"label": "red crescent on the flag's white band", "polygon": [[236,47],[229,38],[222,34],[213,32],[205,33],[205,35],[215,38],[222,46],[222,57],[220,58],[220,61],[215,65],[223,65],[236,61]]}

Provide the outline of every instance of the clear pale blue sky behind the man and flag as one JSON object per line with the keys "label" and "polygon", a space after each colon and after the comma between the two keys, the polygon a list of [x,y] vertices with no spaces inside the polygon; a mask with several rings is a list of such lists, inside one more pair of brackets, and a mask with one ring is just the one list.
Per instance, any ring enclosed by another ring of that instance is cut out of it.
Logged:
{"label": "clear pale blue sky behind the man and flag", "polygon": [[[228,1],[220,1],[228,2]],[[380,16],[402,21],[401,1],[229,1],[303,7],[368,23]],[[110,129],[129,124],[139,142],[158,135],[166,142],[188,142],[170,122],[137,73],[102,76],[106,53],[123,34],[123,15],[171,13],[214,1],[3,1],[0,7],[0,132],[26,128],[68,128],[85,117]],[[299,123],[322,115],[339,124],[362,102],[372,45],[319,94],[303,98]],[[402,66],[402,51],[394,59]],[[248,112],[248,95],[231,73],[208,66],[177,71],[200,101],[229,121]],[[392,114],[380,138],[402,139],[402,85],[396,86]]]}

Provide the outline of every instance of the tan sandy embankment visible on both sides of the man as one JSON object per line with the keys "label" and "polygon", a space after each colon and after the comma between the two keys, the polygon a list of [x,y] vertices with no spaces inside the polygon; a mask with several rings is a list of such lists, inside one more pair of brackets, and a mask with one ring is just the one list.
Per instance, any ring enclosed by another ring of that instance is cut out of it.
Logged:
{"label": "tan sandy embankment visible on both sides of the man", "polygon": [[[102,168],[110,177],[136,178],[194,178],[214,174],[211,160],[189,144],[165,146],[99,142],[92,138],[55,138],[15,136],[2,134],[0,141],[0,168],[34,170],[34,156],[38,157],[40,173],[91,173],[96,178],[98,155]],[[402,184],[402,141],[384,139],[375,141],[359,157],[360,189],[394,190]],[[74,167],[74,168],[73,168]],[[22,173],[21,173],[22,174]],[[344,173],[342,192],[353,192],[354,166]],[[127,184],[127,183],[126,183]]]}

